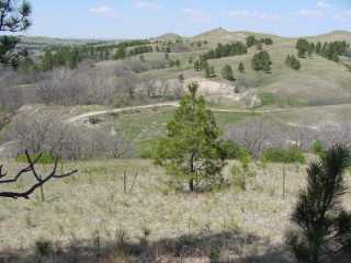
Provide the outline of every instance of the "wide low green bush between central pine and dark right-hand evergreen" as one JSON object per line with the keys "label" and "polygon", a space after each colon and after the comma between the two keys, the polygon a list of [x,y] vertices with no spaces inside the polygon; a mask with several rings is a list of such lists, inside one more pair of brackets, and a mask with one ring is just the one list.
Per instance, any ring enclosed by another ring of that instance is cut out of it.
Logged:
{"label": "wide low green bush between central pine and dark right-hand evergreen", "polygon": [[283,163],[292,163],[298,162],[304,163],[305,157],[303,152],[296,147],[292,147],[288,149],[268,149],[264,150],[261,157],[263,160],[269,162],[283,162]]}

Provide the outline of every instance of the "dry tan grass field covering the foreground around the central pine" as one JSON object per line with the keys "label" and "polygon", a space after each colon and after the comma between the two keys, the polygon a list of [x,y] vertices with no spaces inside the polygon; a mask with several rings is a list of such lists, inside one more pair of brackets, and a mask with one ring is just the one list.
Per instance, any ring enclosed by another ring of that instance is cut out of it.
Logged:
{"label": "dry tan grass field covering the foreground around the central pine", "polygon": [[233,165],[230,187],[196,195],[148,160],[65,164],[79,174],[46,185],[45,202],[0,201],[0,262],[290,262],[284,233],[305,167],[285,165],[283,199],[282,164],[252,164],[246,192]]}

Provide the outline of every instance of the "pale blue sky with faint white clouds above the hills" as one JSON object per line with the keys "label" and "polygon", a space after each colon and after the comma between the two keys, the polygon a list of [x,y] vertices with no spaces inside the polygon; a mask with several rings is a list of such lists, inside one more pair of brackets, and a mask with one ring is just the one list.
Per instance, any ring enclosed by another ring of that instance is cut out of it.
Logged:
{"label": "pale blue sky with faint white clouds above the hills", "polygon": [[30,0],[27,35],[139,38],[224,27],[284,36],[351,31],[351,0]]}

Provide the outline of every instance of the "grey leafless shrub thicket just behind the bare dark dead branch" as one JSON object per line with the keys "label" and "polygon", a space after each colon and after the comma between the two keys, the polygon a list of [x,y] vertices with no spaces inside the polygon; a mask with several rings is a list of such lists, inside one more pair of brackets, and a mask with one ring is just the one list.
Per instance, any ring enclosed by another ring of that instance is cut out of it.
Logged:
{"label": "grey leafless shrub thicket just behind the bare dark dead branch", "polygon": [[8,140],[16,141],[13,156],[25,150],[47,152],[61,159],[78,160],[93,157],[122,158],[132,149],[121,133],[64,124],[49,114],[21,114],[7,132]]}

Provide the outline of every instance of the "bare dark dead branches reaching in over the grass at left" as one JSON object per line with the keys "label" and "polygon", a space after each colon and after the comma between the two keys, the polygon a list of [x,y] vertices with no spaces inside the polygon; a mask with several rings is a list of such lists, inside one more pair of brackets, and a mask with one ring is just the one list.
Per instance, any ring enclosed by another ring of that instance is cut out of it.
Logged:
{"label": "bare dark dead branches reaching in over the grass at left", "polygon": [[35,168],[36,163],[42,158],[42,153],[39,153],[34,160],[31,158],[29,151],[25,151],[25,156],[26,156],[26,160],[27,160],[29,165],[26,168],[22,169],[21,171],[19,171],[18,174],[13,179],[5,179],[8,173],[4,171],[3,165],[0,165],[0,185],[15,183],[22,178],[22,175],[27,174],[27,173],[32,173],[36,182],[33,185],[29,186],[29,188],[23,192],[0,192],[0,197],[15,198],[15,199],[16,198],[29,199],[30,196],[36,190],[41,188],[48,181],[50,181],[53,179],[68,178],[68,176],[78,172],[78,170],[73,170],[73,171],[70,171],[67,173],[57,174],[58,159],[55,159],[55,163],[54,163],[54,168],[53,168],[52,172],[49,172],[47,175],[43,175],[43,174],[39,174]]}

